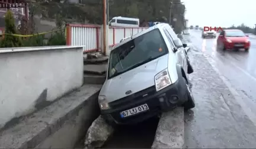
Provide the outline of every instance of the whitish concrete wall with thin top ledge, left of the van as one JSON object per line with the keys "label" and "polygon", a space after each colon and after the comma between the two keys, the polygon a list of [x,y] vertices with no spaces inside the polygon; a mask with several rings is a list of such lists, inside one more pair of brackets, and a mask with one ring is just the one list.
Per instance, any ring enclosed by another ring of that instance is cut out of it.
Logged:
{"label": "whitish concrete wall with thin top ledge, left of the van", "polygon": [[82,47],[0,48],[0,128],[82,84]]}

